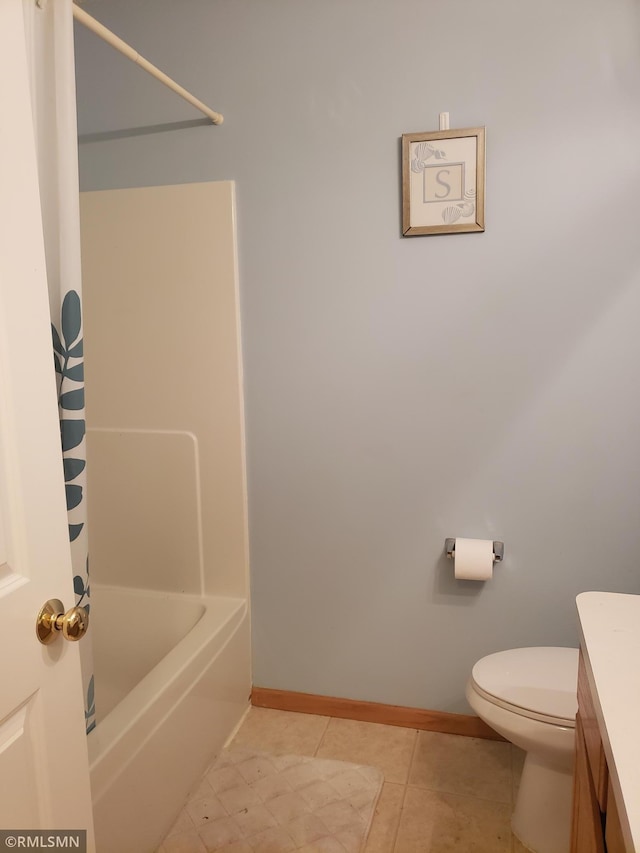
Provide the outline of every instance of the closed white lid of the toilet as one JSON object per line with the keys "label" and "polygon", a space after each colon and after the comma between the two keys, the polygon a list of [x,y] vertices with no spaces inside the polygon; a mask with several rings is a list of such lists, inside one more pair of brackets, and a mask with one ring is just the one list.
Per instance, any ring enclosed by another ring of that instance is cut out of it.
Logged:
{"label": "closed white lid of the toilet", "polygon": [[578,711],[578,649],[508,649],[479,660],[472,678],[503,706],[573,725]]}

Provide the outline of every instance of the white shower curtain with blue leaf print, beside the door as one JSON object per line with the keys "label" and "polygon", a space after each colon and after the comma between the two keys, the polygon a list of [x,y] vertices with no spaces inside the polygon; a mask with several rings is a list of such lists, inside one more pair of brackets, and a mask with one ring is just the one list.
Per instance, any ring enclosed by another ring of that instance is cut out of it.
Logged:
{"label": "white shower curtain with blue leaf print, beside the door", "polygon": [[[38,151],[60,434],[76,603],[89,607],[80,213],[71,0],[23,0]],[[67,605],[70,607],[71,605]],[[87,733],[95,725],[91,632],[80,650]]]}

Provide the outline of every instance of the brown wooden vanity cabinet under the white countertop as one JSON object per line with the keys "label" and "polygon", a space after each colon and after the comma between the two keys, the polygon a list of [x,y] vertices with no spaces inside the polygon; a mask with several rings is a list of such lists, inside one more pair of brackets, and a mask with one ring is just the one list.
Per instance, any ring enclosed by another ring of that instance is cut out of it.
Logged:
{"label": "brown wooden vanity cabinet under the white countertop", "polygon": [[626,853],[582,651],[578,668],[571,853]]}

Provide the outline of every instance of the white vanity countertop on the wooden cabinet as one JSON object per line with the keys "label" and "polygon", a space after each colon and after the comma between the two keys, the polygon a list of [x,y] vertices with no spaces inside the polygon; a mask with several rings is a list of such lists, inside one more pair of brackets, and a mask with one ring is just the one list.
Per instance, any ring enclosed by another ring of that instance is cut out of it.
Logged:
{"label": "white vanity countertop on the wooden cabinet", "polygon": [[576,602],[622,831],[640,853],[640,595],[583,592]]}

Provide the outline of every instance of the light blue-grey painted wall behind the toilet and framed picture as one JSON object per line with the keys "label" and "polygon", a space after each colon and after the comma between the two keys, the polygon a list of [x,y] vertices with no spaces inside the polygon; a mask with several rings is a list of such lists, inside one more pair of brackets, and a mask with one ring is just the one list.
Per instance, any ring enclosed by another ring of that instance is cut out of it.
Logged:
{"label": "light blue-grey painted wall behind the toilet and framed picture", "polygon": [[[131,131],[198,114],[78,33],[84,188],[237,182],[255,683],[464,712],[478,657],[640,593],[635,0],[85,8],[226,118]],[[444,110],[487,230],[403,239]],[[494,580],[446,536],[504,540]]]}

